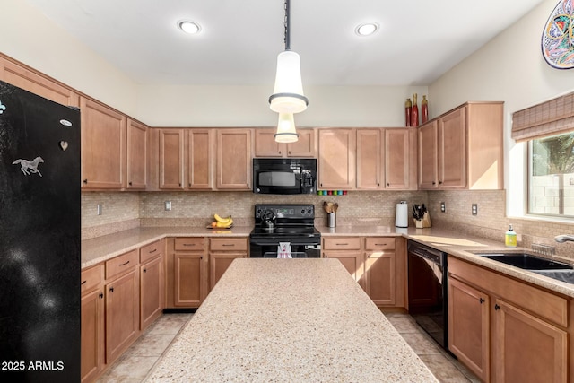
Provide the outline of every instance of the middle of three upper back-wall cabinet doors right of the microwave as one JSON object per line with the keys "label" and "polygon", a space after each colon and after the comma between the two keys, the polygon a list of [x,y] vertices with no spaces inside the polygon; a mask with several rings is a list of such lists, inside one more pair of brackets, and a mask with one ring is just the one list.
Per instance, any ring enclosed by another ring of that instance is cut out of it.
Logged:
{"label": "middle of three upper back-wall cabinet doors right of the microwave", "polygon": [[357,188],[377,190],[382,179],[382,138],[380,129],[357,129]]}

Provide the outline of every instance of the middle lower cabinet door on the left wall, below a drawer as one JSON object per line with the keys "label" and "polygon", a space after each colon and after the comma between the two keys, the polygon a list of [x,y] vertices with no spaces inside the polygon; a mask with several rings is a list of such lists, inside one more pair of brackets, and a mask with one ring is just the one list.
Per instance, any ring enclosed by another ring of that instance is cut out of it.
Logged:
{"label": "middle lower cabinet door on the left wall, below a drawer", "polygon": [[106,285],[106,362],[123,353],[139,335],[139,273],[130,273]]}

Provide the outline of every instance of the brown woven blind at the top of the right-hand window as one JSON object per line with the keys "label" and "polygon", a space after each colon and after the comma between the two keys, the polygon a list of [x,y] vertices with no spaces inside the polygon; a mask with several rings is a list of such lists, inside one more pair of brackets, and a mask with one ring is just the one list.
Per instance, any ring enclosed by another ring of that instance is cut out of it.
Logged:
{"label": "brown woven blind at the top of the right-hand window", "polygon": [[512,138],[533,140],[574,130],[574,92],[512,114]]}

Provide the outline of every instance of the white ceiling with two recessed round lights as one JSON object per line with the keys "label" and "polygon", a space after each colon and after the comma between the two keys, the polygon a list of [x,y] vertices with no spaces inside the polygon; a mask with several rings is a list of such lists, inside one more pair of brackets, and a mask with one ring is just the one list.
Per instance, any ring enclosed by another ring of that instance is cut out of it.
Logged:
{"label": "white ceiling with two recessed round lights", "polygon": [[[272,86],[284,49],[283,0],[26,1],[138,83]],[[291,0],[291,50],[304,85],[424,86],[542,1]]]}

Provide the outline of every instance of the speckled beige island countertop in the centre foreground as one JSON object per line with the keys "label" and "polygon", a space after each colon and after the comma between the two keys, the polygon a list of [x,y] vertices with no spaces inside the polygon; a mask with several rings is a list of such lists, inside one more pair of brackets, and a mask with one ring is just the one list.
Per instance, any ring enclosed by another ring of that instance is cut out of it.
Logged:
{"label": "speckled beige island countertop in the centre foreground", "polygon": [[437,380],[337,260],[240,258],[146,381]]}

